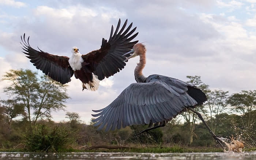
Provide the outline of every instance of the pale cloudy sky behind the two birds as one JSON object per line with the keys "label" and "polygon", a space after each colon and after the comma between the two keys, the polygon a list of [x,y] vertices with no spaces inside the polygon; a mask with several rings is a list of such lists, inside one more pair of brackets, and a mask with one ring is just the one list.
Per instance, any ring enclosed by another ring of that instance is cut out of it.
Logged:
{"label": "pale cloudy sky behind the two birds", "polygon": [[[72,47],[86,54],[108,39],[118,19],[133,22],[134,40],[147,49],[145,76],[159,74],[188,81],[201,76],[210,89],[229,94],[256,89],[256,0],[0,0],[0,77],[9,69],[37,70],[21,51],[20,35],[45,52],[71,56]],[[54,121],[66,112],[79,113],[89,123],[91,109],[101,109],[135,83],[139,57],[104,79],[98,91],[82,92],[74,77],[65,111],[53,112]],[[7,99],[0,83],[0,99]]]}

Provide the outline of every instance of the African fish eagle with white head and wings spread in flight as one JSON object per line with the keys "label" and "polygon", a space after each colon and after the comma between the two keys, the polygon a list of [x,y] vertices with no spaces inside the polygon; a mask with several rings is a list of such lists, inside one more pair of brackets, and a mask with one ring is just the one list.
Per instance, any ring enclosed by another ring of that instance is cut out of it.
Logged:
{"label": "African fish eagle with white head and wings spread in flight", "polygon": [[21,44],[25,51],[22,52],[28,55],[26,57],[37,69],[40,69],[53,80],[65,84],[71,81],[70,78],[75,73],[75,78],[82,81],[83,90],[96,91],[99,87],[99,80],[108,78],[124,68],[124,60],[129,55],[122,55],[130,51],[133,45],[138,42],[131,42],[138,35],[138,32],[133,34],[136,27],[130,31],[132,23],[125,29],[127,21],[118,32],[121,23],[119,19],[114,33],[112,25],[109,41],[102,38],[101,48],[86,55],[79,53],[77,47],[72,48],[71,57],[52,55],[39,48],[37,51],[30,46],[29,37],[27,41],[25,40],[25,33],[23,38],[21,36]]}

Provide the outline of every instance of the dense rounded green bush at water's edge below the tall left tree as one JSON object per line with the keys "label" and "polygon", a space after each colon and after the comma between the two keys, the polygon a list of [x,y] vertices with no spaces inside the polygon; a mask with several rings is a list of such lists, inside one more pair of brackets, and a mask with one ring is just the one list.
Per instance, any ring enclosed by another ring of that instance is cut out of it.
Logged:
{"label": "dense rounded green bush at water's edge below the tall left tree", "polygon": [[25,135],[25,145],[28,151],[57,152],[75,141],[74,132],[67,128],[37,125]]}

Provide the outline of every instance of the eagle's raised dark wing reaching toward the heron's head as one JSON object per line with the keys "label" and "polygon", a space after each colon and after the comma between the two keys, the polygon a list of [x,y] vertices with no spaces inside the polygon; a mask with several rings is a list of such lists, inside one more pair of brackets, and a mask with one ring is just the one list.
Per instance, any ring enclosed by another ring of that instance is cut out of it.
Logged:
{"label": "eagle's raised dark wing reaching toward the heron's head", "polygon": [[[121,20],[119,19],[117,28],[113,33],[113,25],[110,32],[109,40],[102,39],[101,48],[92,51],[86,55],[82,55],[85,62],[89,63],[87,67],[90,67],[99,80],[103,80],[105,77],[114,75],[122,70],[125,66],[124,60],[129,56],[122,56],[124,53],[130,51],[138,41],[133,41],[138,32],[135,32],[136,27],[132,30],[132,23],[125,29],[127,20],[123,27],[120,28]],[[119,31],[118,31],[119,30]]]}

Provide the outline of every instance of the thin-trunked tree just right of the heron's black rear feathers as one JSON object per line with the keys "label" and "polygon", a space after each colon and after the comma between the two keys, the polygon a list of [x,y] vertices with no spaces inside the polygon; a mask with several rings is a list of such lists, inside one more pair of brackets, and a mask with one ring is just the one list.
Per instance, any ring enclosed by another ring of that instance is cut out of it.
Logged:
{"label": "thin-trunked tree just right of the heron's black rear feathers", "polygon": [[207,92],[207,103],[205,104],[210,111],[210,120],[212,123],[212,132],[215,133],[216,129],[216,123],[215,119],[213,119],[214,116],[218,116],[221,114],[225,108],[227,107],[227,98],[228,98],[228,91],[222,91],[221,89],[219,90],[214,90]]}

